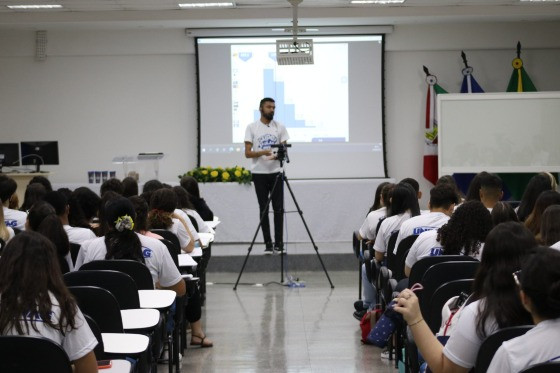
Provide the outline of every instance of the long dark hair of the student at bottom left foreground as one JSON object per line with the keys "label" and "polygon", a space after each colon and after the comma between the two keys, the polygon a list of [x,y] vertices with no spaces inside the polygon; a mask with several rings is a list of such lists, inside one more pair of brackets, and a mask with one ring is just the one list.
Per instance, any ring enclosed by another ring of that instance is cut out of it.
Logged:
{"label": "long dark hair of the student at bottom left foreground", "polygon": [[[51,318],[53,302],[60,307],[59,323]],[[24,231],[8,242],[0,257],[0,334],[14,328],[17,334],[38,332],[35,321],[22,320],[34,313],[63,335],[76,328],[77,306],[64,285],[52,242],[39,233]]]}

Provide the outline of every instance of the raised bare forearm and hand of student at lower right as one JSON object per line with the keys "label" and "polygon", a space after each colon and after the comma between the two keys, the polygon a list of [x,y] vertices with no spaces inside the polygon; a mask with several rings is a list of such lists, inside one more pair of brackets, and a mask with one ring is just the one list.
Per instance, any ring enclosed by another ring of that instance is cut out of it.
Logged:
{"label": "raised bare forearm and hand of student at lower right", "polygon": [[443,345],[432,334],[430,327],[424,321],[418,297],[410,289],[403,290],[395,299],[394,310],[403,315],[408,324],[418,350],[434,373],[467,373],[470,369],[463,368],[443,354]]}

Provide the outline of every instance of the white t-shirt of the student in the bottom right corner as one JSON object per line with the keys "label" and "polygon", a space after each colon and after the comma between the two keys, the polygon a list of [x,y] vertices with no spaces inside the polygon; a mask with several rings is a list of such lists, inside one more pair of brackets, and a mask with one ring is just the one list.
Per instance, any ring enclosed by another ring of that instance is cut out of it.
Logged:
{"label": "white t-shirt of the student in the bottom right corner", "polygon": [[522,336],[502,343],[487,372],[519,372],[531,365],[560,361],[560,319],[545,320]]}

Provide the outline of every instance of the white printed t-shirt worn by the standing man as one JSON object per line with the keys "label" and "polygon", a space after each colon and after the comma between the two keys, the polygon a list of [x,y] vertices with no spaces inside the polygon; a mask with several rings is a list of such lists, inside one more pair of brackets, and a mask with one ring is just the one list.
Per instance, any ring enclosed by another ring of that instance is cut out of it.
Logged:
{"label": "white printed t-shirt worn by the standing man", "polygon": [[[271,145],[281,144],[288,141],[290,136],[286,127],[273,120],[264,124],[259,120],[249,124],[245,130],[245,142],[253,144],[253,150],[271,149]],[[254,174],[271,174],[280,172],[280,162],[261,156],[252,158],[251,172]]]}

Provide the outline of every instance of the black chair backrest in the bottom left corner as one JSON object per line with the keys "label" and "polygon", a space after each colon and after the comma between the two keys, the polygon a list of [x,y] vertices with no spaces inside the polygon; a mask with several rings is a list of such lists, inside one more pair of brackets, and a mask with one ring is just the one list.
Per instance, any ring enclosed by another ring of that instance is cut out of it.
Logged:
{"label": "black chair backrest in the bottom left corner", "polygon": [[0,336],[0,372],[72,373],[62,347],[47,338]]}

